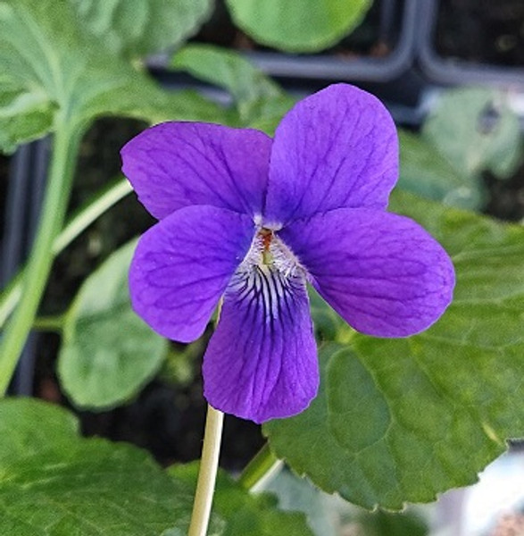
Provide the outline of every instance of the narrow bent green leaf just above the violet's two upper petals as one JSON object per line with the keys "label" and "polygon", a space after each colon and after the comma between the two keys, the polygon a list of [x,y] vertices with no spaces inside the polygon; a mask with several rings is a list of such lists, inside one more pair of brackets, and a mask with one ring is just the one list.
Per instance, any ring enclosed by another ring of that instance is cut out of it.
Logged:
{"label": "narrow bent green leaf just above the violet's two upper petals", "polygon": [[294,98],[245,58],[218,46],[185,46],[173,56],[171,67],[228,91],[241,126],[272,134],[295,104]]}

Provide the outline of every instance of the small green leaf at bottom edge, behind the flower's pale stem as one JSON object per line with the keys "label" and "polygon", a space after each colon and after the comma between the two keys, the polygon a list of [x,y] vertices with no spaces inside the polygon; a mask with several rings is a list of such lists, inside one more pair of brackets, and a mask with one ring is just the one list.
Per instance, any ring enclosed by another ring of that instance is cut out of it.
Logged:
{"label": "small green leaf at bottom edge, behind the flower's pale stem", "polygon": [[[169,472],[194,493],[198,467],[198,463],[174,465]],[[252,495],[223,471],[217,477],[213,512],[224,522],[217,536],[313,536],[304,514],[280,511],[274,496]]]}

